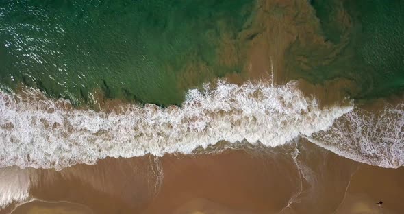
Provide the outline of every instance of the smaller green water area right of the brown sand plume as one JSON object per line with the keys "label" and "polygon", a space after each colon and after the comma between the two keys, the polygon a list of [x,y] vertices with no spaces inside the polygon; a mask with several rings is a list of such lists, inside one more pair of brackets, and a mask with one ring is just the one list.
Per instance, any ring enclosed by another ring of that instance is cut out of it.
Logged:
{"label": "smaller green water area right of the brown sand plume", "polygon": [[[312,0],[311,4],[321,34],[333,45],[292,45],[288,62],[294,64],[294,78],[316,83],[348,78],[360,89],[353,95],[356,99],[403,93],[404,1]],[[342,11],[348,15],[349,24],[341,24]],[[308,68],[293,62],[299,54],[307,57]]]}

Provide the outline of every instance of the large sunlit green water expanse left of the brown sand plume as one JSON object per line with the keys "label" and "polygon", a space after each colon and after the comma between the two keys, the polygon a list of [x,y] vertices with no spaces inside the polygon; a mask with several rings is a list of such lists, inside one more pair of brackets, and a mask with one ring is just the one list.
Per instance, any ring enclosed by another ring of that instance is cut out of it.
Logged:
{"label": "large sunlit green water expanse left of the brown sand plume", "polygon": [[76,104],[94,88],[180,104],[183,82],[240,72],[242,64],[218,62],[218,45],[251,22],[252,7],[251,0],[1,1],[0,82]]}

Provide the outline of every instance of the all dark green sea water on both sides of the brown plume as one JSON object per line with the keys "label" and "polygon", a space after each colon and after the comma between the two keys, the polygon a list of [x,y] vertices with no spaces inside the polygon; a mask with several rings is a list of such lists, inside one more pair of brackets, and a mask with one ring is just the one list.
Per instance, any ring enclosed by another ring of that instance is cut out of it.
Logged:
{"label": "all dark green sea water on both sides of the brown plume", "polygon": [[[318,33],[332,45],[290,45],[285,53],[290,79],[348,78],[360,88],[353,95],[358,99],[403,91],[404,1],[310,3],[312,19],[320,21]],[[254,5],[253,0],[0,1],[0,84],[15,88],[22,82],[75,104],[91,102],[94,88],[106,97],[180,104],[187,88],[242,72],[247,45],[238,35],[260,21]],[[235,62],[220,60],[224,43],[236,49]],[[304,66],[296,60],[302,56]]]}

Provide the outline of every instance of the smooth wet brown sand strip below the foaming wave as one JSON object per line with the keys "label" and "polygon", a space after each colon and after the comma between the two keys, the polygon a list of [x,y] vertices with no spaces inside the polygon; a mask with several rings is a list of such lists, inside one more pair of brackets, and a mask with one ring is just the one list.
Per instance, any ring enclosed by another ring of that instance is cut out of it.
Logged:
{"label": "smooth wet brown sand strip below the foaming wave", "polygon": [[[404,209],[403,167],[355,163],[307,142],[297,147],[243,146],[218,154],[107,158],[97,165],[34,171],[38,182],[31,184],[31,197],[83,206],[29,202],[13,213],[91,213],[89,209],[93,213],[401,213]],[[382,207],[375,204],[379,200]]]}

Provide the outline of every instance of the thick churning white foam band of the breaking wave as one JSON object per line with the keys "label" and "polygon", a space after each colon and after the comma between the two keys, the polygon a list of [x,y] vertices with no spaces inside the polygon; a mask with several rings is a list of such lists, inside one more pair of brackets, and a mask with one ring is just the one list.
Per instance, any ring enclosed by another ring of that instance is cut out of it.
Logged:
{"label": "thick churning white foam band of the breaking wave", "polygon": [[188,91],[181,108],[131,105],[121,114],[58,108],[55,103],[64,100],[18,99],[0,93],[0,167],[62,169],[106,156],[188,154],[223,140],[274,147],[326,130],[353,108],[320,109],[293,82],[218,82],[215,88]]}

